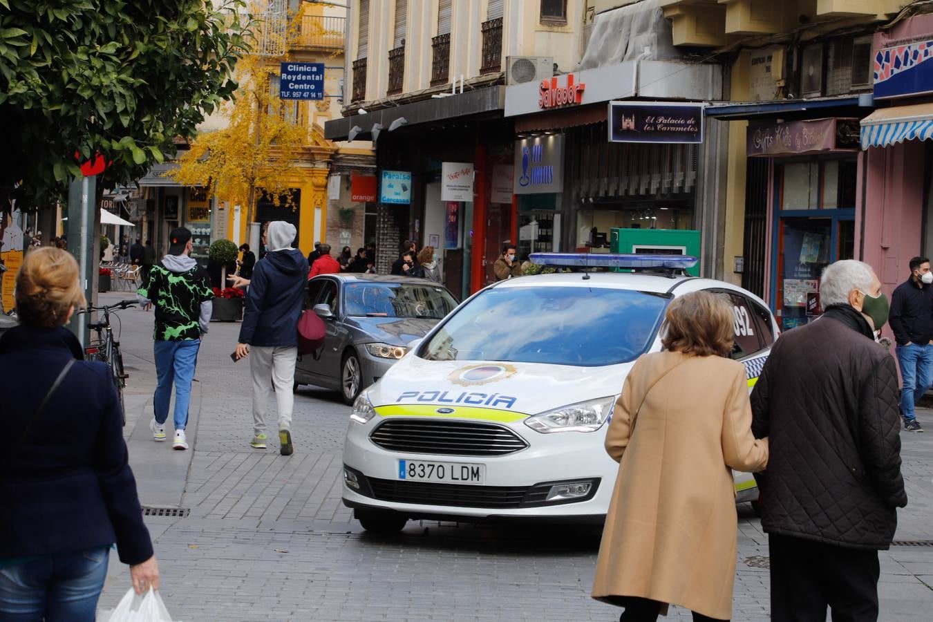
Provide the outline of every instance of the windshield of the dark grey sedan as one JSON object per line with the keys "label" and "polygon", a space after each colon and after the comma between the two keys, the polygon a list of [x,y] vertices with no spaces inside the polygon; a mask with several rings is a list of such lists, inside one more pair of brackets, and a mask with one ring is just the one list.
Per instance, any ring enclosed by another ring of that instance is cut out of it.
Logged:
{"label": "windshield of the dark grey sedan", "polygon": [[357,317],[424,317],[439,320],[457,306],[443,287],[411,283],[347,283],[346,314]]}

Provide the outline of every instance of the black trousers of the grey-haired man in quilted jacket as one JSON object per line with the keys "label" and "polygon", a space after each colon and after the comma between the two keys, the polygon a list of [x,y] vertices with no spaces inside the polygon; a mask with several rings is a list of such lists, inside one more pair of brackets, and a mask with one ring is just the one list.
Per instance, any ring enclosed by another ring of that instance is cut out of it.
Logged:
{"label": "black trousers of the grey-haired man in quilted jacket", "polygon": [[773,622],[878,619],[878,551],[770,534]]}

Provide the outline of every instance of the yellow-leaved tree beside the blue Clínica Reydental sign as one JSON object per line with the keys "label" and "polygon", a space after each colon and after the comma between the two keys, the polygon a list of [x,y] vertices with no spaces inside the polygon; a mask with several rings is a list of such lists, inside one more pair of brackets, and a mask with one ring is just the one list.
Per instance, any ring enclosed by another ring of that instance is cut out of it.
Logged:
{"label": "yellow-leaved tree beside the blue Cl\u00ednica Reydental sign", "polygon": [[251,53],[237,63],[240,87],[221,112],[229,124],[200,133],[172,173],[183,186],[211,187],[219,199],[246,205],[247,223],[262,197],[291,206],[290,188],[300,174],[302,146],[308,144],[295,103],[272,92],[281,60]]}

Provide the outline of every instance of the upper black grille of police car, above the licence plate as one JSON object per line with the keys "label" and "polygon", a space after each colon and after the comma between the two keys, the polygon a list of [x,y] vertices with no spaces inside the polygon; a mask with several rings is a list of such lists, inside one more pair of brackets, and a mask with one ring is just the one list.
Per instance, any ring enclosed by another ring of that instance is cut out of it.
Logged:
{"label": "upper black grille of police car, above the licence plate", "polygon": [[528,447],[507,427],[477,422],[390,419],[369,438],[389,451],[445,456],[504,456]]}

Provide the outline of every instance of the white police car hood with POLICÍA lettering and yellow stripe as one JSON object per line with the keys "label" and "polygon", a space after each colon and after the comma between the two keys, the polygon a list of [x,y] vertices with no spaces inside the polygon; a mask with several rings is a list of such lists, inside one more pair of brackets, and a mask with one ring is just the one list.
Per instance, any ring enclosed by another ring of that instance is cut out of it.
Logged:
{"label": "white police car hood with POLIC\u00cdA lettering and yellow stripe", "polygon": [[391,407],[404,405],[410,407],[408,410],[416,407],[423,415],[482,418],[478,411],[489,411],[490,419],[515,421],[552,408],[618,395],[633,365],[426,361],[409,353],[369,388],[369,401],[384,415],[394,414]]}

